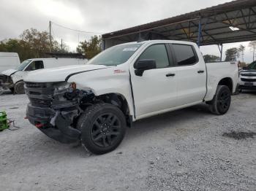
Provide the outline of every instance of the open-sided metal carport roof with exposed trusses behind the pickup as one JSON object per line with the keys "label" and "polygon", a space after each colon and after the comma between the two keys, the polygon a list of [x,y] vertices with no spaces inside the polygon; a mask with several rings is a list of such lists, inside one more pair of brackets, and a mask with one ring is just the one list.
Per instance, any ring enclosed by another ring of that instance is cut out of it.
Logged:
{"label": "open-sided metal carport roof with exposed trusses behind the pickup", "polygon": [[102,35],[102,47],[148,39],[200,45],[256,40],[256,0],[237,0]]}

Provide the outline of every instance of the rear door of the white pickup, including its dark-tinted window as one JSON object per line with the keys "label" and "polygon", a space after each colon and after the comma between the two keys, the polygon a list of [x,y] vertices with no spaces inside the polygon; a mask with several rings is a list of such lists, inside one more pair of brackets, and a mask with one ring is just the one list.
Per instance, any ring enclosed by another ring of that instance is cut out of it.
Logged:
{"label": "rear door of the white pickup, including its dark-tinted window", "polygon": [[170,44],[177,78],[177,104],[203,101],[206,95],[206,65],[190,44]]}

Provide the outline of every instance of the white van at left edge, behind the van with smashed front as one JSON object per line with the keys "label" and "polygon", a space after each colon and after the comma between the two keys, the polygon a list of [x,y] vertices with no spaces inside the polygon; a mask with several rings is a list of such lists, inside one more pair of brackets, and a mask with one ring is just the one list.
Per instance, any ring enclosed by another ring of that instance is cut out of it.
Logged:
{"label": "white van at left edge, behind the van with smashed front", "polygon": [[7,69],[15,69],[20,65],[20,58],[15,52],[0,52],[0,73]]}

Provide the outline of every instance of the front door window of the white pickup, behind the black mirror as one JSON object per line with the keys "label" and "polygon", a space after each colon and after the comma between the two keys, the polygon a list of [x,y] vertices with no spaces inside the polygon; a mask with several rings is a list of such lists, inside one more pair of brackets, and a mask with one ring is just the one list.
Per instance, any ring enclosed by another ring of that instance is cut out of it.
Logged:
{"label": "front door window of the white pickup, behind the black mirror", "polygon": [[157,69],[169,66],[169,59],[167,56],[165,44],[154,44],[148,47],[141,55],[139,60],[155,60]]}

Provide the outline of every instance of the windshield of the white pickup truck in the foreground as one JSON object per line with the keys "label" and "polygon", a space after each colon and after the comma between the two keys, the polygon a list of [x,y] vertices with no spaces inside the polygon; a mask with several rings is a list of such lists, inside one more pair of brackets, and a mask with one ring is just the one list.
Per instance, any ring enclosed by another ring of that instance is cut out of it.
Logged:
{"label": "windshield of the white pickup truck in the foreground", "polygon": [[92,58],[91,61],[89,61],[89,64],[116,66],[121,63],[125,63],[141,45],[142,43],[136,43],[121,44],[115,47],[110,47]]}

